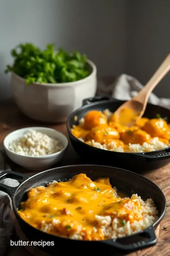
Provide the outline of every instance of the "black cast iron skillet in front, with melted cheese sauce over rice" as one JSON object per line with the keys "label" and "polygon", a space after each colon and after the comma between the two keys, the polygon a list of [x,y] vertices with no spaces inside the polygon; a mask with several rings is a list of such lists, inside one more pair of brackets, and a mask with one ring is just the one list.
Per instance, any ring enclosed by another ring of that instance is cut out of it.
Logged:
{"label": "black cast iron skillet in front, with melted cheese sauce over rice", "polygon": [[[53,180],[66,181],[73,175],[80,173],[86,174],[92,180],[99,177],[109,177],[111,185],[116,186],[119,192],[124,192],[127,196],[131,196],[132,193],[137,193],[143,200],[152,198],[159,211],[159,219],[156,220],[151,227],[144,229],[144,231],[125,238],[105,241],[78,241],[44,233],[30,226],[19,217],[17,208],[20,208],[21,201],[27,199],[27,192],[30,188],[46,185]],[[5,178],[17,179],[21,182],[21,184],[15,188],[0,183],[0,190],[7,192],[12,199],[13,210],[20,228],[30,241],[53,241],[54,246],[40,246],[41,250],[52,256],[56,256],[58,253],[62,253],[63,255],[66,255],[66,253],[74,253],[74,255],[80,256],[82,252],[86,252],[90,255],[94,252],[96,255],[101,255],[102,252],[104,255],[111,256],[125,255],[147,247],[152,247],[157,242],[154,229],[156,229],[165,214],[166,199],[163,192],[156,184],[139,174],[109,166],[69,165],[44,171],[33,176],[5,171],[0,174],[0,181]]]}

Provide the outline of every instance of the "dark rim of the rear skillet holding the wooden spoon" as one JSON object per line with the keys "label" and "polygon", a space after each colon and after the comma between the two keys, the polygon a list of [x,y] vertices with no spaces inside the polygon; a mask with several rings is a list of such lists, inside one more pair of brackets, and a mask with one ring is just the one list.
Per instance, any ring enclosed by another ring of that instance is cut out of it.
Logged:
{"label": "dark rim of the rear skillet holding the wooden spoon", "polygon": [[[119,101],[119,100],[116,100],[116,99],[111,99],[110,101],[112,101],[112,100],[113,100],[113,102],[118,102],[118,101]],[[115,100],[115,101],[114,101],[114,100]],[[104,149],[102,149],[102,148],[98,148],[98,147],[94,147],[94,146],[85,144],[85,142],[83,142],[83,141],[79,140],[78,138],[76,138],[76,137],[71,133],[71,130],[70,130],[70,128],[69,128],[69,123],[70,123],[70,119],[71,119],[72,117],[76,116],[76,113],[77,113],[78,111],[84,110],[85,108],[87,108],[87,106],[96,106],[96,105],[98,105],[99,103],[108,103],[108,102],[110,102],[110,101],[106,100],[106,101],[97,101],[97,102],[89,103],[89,104],[86,104],[86,105],[80,107],[79,109],[75,110],[74,112],[72,112],[71,115],[68,117],[67,122],[66,122],[68,132],[70,133],[70,135],[69,135],[69,134],[68,134],[68,135],[74,137],[74,139],[76,139],[76,141],[79,142],[79,143],[81,143],[82,145],[86,145],[86,146],[91,147],[91,148],[93,147],[93,148],[95,148],[95,149],[98,150],[98,151],[99,151],[99,150],[106,151],[106,150],[104,150]],[[151,103],[148,103],[147,105],[158,106],[158,105],[153,105],[153,104],[151,104]],[[165,108],[163,108],[163,107],[161,107],[161,106],[158,106],[158,107],[160,107],[160,108],[162,108],[162,109],[165,109]],[[165,110],[168,110],[168,109],[165,109]],[[118,153],[118,154],[126,154],[126,155],[129,155],[129,154],[131,154],[131,155],[150,155],[150,154],[153,154],[153,153],[155,153],[155,154],[157,154],[157,153],[160,154],[163,150],[167,150],[167,149],[170,149],[170,146],[165,147],[165,148],[162,148],[162,149],[150,151],[150,152],[140,152],[140,153],[130,153],[130,152],[127,153],[127,152],[117,152],[117,151],[110,151],[110,152],[111,152],[111,154],[112,154],[112,153]]]}

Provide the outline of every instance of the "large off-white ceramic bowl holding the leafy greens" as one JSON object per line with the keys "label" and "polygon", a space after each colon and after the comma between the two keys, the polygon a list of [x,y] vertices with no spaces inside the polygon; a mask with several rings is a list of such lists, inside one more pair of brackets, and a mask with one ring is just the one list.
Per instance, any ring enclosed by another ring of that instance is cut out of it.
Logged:
{"label": "large off-white ceramic bowl holding the leafy greens", "polygon": [[76,82],[26,84],[12,73],[11,87],[18,108],[29,118],[44,122],[64,122],[82,106],[86,98],[94,97],[97,88],[96,66],[87,61],[90,75]]}

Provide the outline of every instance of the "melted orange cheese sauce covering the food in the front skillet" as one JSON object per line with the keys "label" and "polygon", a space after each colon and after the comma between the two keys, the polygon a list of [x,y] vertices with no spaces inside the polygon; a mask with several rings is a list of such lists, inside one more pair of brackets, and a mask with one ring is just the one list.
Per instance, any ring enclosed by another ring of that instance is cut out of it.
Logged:
{"label": "melted orange cheese sauce covering the food in the front skillet", "polygon": [[84,240],[102,240],[105,238],[96,215],[119,218],[121,226],[122,220],[140,220],[138,209],[139,201],[121,199],[109,178],[93,182],[85,174],[78,174],[67,182],[31,188],[18,214],[36,229],[46,225],[45,232],[53,235],[70,237],[79,231],[84,233]]}

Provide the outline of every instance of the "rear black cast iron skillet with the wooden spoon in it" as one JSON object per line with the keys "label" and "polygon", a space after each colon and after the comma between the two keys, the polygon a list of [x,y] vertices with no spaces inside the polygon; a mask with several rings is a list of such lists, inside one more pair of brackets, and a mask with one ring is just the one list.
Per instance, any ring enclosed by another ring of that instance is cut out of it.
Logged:
{"label": "rear black cast iron skillet with the wooden spoon in it", "polygon": [[[120,153],[99,149],[77,139],[71,133],[73,125],[78,124],[78,120],[85,116],[90,110],[109,109],[114,112],[125,101],[115,100],[111,97],[95,97],[83,101],[83,106],[74,111],[67,120],[68,136],[76,153],[84,159],[87,164],[116,166],[133,172],[142,172],[160,168],[170,162],[170,147],[156,150],[149,153]],[[160,114],[162,118],[167,117],[170,121],[170,110],[165,108],[147,104],[144,117],[155,118],[156,114]],[[77,121],[75,121],[77,116]]]}

